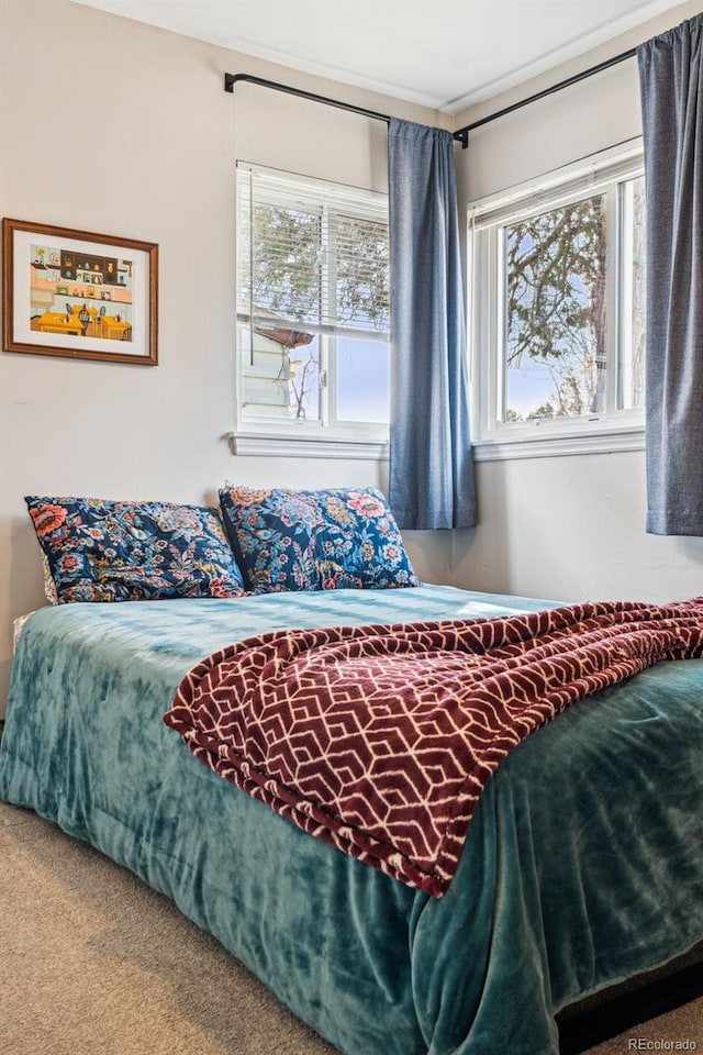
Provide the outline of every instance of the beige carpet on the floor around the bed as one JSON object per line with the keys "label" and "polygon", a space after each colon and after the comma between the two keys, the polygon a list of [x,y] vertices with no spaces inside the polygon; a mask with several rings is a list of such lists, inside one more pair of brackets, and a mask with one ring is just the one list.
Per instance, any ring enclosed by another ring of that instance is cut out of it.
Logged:
{"label": "beige carpet on the floor around the bed", "polygon": [[[703,1052],[703,999],[592,1055],[647,1050],[633,1045],[638,1039],[660,1042],[649,1051],[688,1040]],[[1,1055],[334,1051],[166,898],[35,814],[0,803]]]}

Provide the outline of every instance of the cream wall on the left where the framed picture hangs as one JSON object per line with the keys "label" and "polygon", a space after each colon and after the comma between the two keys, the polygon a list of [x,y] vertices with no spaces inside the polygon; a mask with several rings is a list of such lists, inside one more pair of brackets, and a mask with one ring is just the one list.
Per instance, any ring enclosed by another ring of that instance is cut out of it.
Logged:
{"label": "cream wall on the left where the framed picture hangs", "polygon": [[[2,0],[0,20],[2,215],[160,252],[158,367],[0,353],[1,713],[12,619],[43,603],[24,495],[202,502],[225,479],[384,485],[375,462],[231,454],[235,160],[384,189],[387,132],[250,85],[228,95],[224,73],[438,116],[68,0]],[[448,535],[409,547],[420,575],[449,577]]]}

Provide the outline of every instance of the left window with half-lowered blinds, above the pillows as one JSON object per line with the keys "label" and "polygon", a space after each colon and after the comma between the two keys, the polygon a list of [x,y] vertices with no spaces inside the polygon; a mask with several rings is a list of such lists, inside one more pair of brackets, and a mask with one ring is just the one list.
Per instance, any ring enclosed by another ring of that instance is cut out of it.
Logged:
{"label": "left window with half-lowered blinds, above the pillows", "polygon": [[238,435],[386,442],[389,355],[386,195],[238,164]]}

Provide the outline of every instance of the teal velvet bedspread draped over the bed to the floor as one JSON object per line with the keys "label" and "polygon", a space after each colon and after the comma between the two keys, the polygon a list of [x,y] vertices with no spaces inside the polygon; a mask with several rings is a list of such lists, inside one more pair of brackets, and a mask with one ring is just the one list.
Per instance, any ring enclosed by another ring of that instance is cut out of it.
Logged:
{"label": "teal velvet bedspread draped over the bed to the floor", "polygon": [[161,722],[187,670],[249,634],[546,604],[424,586],[42,609],[18,642],[0,797],[172,898],[346,1055],[555,1055],[561,1007],[703,939],[703,660],[516,747],[440,899],[301,832]]}

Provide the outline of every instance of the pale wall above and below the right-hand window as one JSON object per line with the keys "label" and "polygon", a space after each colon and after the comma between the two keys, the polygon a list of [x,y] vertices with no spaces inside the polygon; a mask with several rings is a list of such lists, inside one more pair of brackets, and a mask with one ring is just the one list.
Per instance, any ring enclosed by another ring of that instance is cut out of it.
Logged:
{"label": "pale wall above and below the right-hand window", "polygon": [[[524,99],[703,10],[672,8],[607,47],[457,114],[454,127]],[[628,59],[484,125],[457,149],[460,214],[486,195],[641,134],[637,66]],[[458,586],[556,600],[671,600],[703,592],[703,538],[645,534],[644,452],[483,462],[480,523],[454,533]]]}

